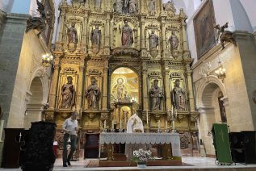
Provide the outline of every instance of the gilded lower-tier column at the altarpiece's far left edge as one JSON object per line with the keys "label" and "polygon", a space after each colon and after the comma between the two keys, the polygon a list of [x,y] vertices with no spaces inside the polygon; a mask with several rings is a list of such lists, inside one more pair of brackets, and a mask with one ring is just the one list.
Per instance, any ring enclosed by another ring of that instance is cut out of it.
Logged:
{"label": "gilded lower-tier column at the altarpiece's far left edge", "polygon": [[51,81],[51,87],[50,87],[50,93],[49,93],[49,109],[55,109],[56,102],[57,102],[57,86],[58,86],[58,76],[60,72],[60,57],[61,53],[54,54],[54,65],[53,65],[53,74],[52,74],[52,81]]}

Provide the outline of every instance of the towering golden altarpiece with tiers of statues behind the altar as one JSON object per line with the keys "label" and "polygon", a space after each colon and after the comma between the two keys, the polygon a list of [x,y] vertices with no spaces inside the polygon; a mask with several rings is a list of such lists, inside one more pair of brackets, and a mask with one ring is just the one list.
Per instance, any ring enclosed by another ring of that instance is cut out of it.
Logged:
{"label": "towering golden altarpiece with tiers of statues behind the altar", "polygon": [[79,114],[80,148],[86,134],[125,127],[134,111],[146,131],[157,131],[158,122],[171,129],[175,118],[181,148],[196,148],[183,9],[162,0],[64,0],[59,9],[45,120],[57,123],[60,148],[61,127],[72,111]]}

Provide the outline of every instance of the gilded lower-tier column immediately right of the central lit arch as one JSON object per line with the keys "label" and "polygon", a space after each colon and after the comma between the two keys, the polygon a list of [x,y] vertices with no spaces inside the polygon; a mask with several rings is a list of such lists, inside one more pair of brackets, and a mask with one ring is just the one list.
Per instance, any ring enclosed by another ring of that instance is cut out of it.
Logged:
{"label": "gilded lower-tier column immediately right of the central lit arch", "polygon": [[147,64],[146,61],[142,63],[142,97],[143,97],[143,111],[149,110],[148,86],[147,86]]}

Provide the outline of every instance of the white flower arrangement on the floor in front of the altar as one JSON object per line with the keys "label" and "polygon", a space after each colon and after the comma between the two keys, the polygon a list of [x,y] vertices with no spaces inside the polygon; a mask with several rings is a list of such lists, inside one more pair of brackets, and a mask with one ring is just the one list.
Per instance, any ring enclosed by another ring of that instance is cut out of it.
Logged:
{"label": "white flower arrangement on the floor in front of the altar", "polygon": [[131,161],[137,162],[138,164],[146,163],[146,161],[153,159],[153,157],[151,156],[152,152],[150,152],[150,150],[149,151],[145,151],[143,149],[134,150],[132,154],[133,155],[132,155]]}

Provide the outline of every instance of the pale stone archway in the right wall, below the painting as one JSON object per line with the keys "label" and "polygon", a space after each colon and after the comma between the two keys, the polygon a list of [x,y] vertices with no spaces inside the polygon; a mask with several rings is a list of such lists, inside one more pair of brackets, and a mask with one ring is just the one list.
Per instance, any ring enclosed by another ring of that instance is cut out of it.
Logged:
{"label": "pale stone archway in the right wall, below the painting", "polygon": [[[216,77],[208,76],[198,86],[196,92],[196,106],[199,111],[199,136],[204,142],[207,155],[215,155],[212,146],[212,123],[220,121],[218,96],[220,92],[227,98],[225,85]],[[226,101],[225,101],[226,102]]]}

